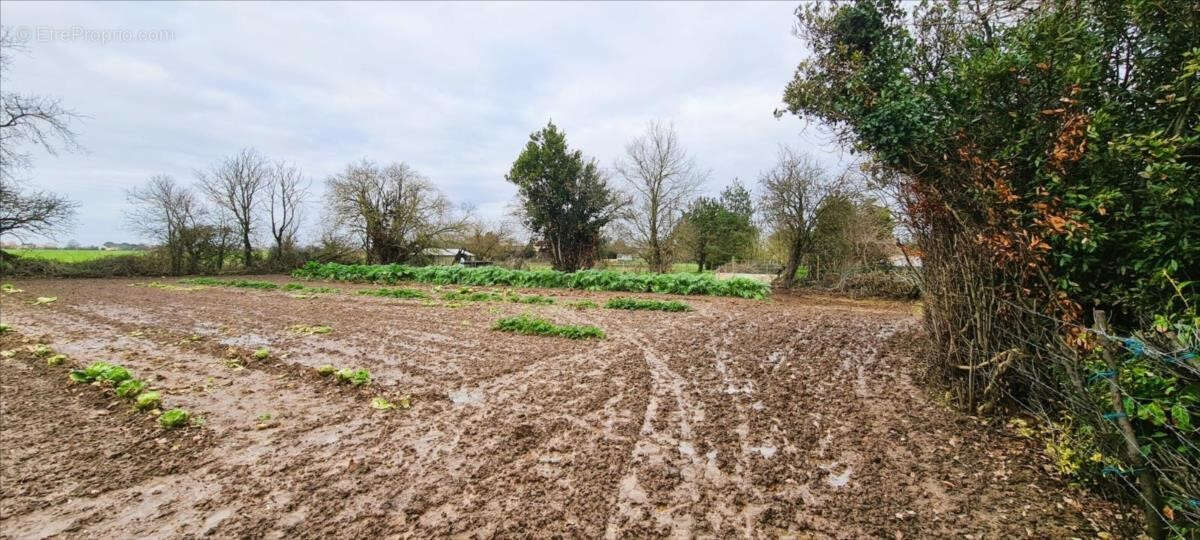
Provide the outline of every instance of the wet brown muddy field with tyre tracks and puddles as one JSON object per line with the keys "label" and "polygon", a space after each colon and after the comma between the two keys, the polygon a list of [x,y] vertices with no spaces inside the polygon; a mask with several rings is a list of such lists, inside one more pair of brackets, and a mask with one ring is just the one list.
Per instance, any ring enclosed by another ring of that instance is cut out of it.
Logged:
{"label": "wet brown muddy field with tyre tracks and puddles", "polygon": [[[284,282],[280,277],[263,277]],[[164,281],[167,282],[167,281]],[[173,282],[169,282],[173,283]],[[916,382],[913,306],[688,313],[16,281],[0,300],[0,536],[1094,536],[1130,510]],[[325,286],[325,284],[323,284]],[[413,286],[430,290],[427,286]],[[34,305],[37,296],[58,296]],[[644,295],[654,296],[654,295]],[[664,296],[665,298],[665,296]],[[490,330],[536,313],[600,341]],[[293,325],[329,325],[324,335]],[[71,360],[26,350],[49,343]],[[271,356],[252,353],[269,347]],[[163,431],[68,365],[115,361]],[[365,389],[316,367],[368,368]],[[373,397],[412,396],[407,410]]]}

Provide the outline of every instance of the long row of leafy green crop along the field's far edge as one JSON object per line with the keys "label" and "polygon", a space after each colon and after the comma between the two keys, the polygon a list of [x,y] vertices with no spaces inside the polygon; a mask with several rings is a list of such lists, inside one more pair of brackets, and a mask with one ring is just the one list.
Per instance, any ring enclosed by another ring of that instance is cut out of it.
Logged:
{"label": "long row of leafy green crop along the field's far edge", "polygon": [[334,280],[359,283],[415,281],[476,287],[566,288],[623,290],[629,293],[698,294],[763,299],[770,288],[743,277],[718,280],[708,274],[631,274],[612,270],[510,270],[499,266],[408,266],[403,264],[337,264],[310,262],[292,272],[306,280]]}

